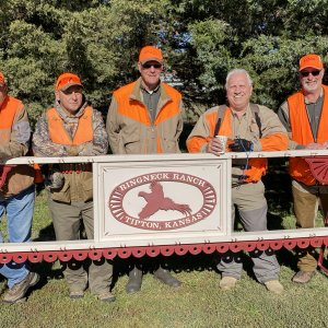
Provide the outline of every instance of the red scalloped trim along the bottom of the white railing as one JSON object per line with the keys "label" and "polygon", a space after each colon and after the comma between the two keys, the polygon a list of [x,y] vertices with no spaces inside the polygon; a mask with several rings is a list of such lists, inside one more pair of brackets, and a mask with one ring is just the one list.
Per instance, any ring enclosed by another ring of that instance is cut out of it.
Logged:
{"label": "red scalloped trim along the bottom of the white railing", "polygon": [[328,273],[328,269],[324,267],[325,249],[328,246],[328,236],[325,237],[308,237],[308,238],[290,238],[290,239],[272,239],[272,241],[247,241],[247,242],[225,242],[225,243],[209,243],[209,244],[186,244],[186,245],[164,245],[164,246],[140,246],[140,247],[119,247],[119,248],[94,248],[94,249],[67,249],[67,250],[40,250],[40,251],[13,251],[13,253],[0,253],[0,263],[9,263],[14,261],[17,263],[26,260],[35,263],[40,261],[55,262],[56,260],[69,261],[74,258],[77,260],[84,260],[85,258],[101,259],[113,259],[115,257],[128,258],[130,256],[140,258],[145,255],[150,257],[156,257],[160,254],[164,256],[191,255],[226,253],[232,250],[234,253],[241,250],[251,251],[255,249],[266,250],[271,248],[273,250],[295,248],[306,248],[308,246],[321,247],[319,254],[318,266]]}

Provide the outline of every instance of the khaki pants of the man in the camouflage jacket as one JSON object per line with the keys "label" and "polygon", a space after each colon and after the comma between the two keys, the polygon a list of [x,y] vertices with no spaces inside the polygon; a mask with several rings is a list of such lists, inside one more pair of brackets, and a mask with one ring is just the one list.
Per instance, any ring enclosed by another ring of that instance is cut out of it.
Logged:
{"label": "khaki pants of the man in the camouflage jacket", "polygon": [[[48,198],[48,204],[52,216],[56,239],[80,239],[80,220],[83,221],[87,239],[94,237],[93,202],[63,203]],[[84,290],[87,286],[93,294],[99,295],[109,291],[113,278],[113,266],[106,260],[92,260],[87,271],[83,261],[70,260],[63,263],[63,273],[71,291]]]}

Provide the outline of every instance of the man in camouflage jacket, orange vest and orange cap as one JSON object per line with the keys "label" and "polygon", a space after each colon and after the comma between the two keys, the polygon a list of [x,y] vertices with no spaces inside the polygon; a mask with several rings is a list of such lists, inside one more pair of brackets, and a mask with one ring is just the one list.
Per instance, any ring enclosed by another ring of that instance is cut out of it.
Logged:
{"label": "man in camouflage jacket, orange vest and orange cap", "polygon": [[[102,114],[87,105],[80,78],[62,73],[55,85],[55,107],[38,119],[33,136],[36,156],[95,156],[107,153],[108,139]],[[56,238],[80,238],[82,219],[86,237],[94,238],[92,165],[57,165],[48,186],[48,204]],[[82,261],[71,260],[65,268],[70,297],[83,297],[87,284],[101,301],[113,302],[109,292],[113,266],[106,260],[92,260],[89,274]]]}

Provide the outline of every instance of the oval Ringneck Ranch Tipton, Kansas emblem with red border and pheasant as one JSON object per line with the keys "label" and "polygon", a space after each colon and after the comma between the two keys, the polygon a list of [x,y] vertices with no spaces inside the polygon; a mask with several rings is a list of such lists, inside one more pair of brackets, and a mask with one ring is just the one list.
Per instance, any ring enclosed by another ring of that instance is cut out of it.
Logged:
{"label": "oval Ringneck Ranch Tipton, Kansas emblem with red border and pheasant", "polygon": [[[189,203],[181,203],[180,197],[187,197]],[[202,177],[148,172],[115,186],[107,202],[108,220],[143,231],[175,231],[206,221],[219,209],[216,200],[213,185]]]}

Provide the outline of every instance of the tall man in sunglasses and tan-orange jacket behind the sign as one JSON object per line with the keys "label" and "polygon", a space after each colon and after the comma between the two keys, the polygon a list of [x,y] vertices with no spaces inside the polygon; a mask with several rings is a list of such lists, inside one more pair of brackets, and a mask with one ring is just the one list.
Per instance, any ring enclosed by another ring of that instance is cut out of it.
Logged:
{"label": "tall man in sunglasses and tan-orange jacket behind the sign", "polygon": [[[145,46],[140,50],[140,78],[116,90],[107,115],[106,130],[114,154],[179,153],[183,131],[181,95],[162,82],[163,54]],[[163,283],[178,288],[181,283],[161,266],[154,272]],[[133,267],[127,292],[141,288],[142,271]]]}

